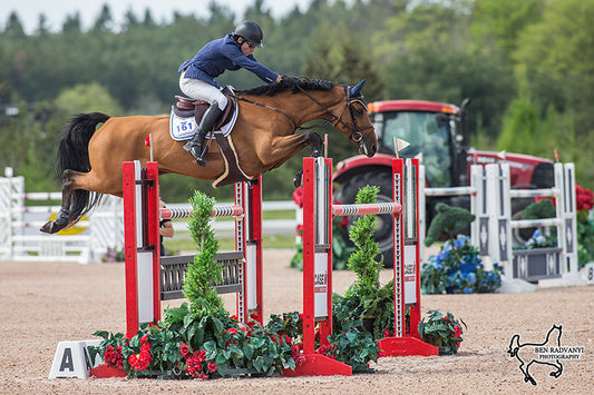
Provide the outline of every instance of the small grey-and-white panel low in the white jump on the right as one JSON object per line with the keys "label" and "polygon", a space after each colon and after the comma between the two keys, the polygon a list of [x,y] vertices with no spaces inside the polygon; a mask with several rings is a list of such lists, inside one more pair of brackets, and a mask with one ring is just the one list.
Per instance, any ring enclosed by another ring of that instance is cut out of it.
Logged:
{"label": "small grey-and-white panel low in the white jump on the right", "polygon": [[561,248],[514,250],[514,278],[537,283],[544,278],[561,277]]}

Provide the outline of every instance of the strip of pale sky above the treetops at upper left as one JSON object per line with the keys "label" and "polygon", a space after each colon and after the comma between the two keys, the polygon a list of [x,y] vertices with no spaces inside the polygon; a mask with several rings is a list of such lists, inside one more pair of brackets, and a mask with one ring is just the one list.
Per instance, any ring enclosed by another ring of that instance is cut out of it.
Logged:
{"label": "strip of pale sky above the treetops at upper left", "polygon": [[[47,18],[47,26],[50,31],[60,31],[62,22],[68,14],[79,11],[82,28],[89,28],[103,4],[107,3],[111,10],[116,26],[121,23],[124,14],[132,9],[138,18],[143,18],[145,9],[150,9],[153,19],[156,22],[163,20],[171,21],[174,11],[182,14],[194,13],[196,17],[207,17],[208,4],[212,0],[2,0],[0,6],[0,29],[3,29],[8,17],[12,11],[17,11],[19,19],[27,33],[32,33],[39,24],[39,14]],[[241,18],[249,6],[254,4],[254,0],[216,0],[221,7],[230,8],[235,18]],[[264,7],[272,11],[275,18],[289,13],[295,6],[304,11],[311,0],[264,0]]]}

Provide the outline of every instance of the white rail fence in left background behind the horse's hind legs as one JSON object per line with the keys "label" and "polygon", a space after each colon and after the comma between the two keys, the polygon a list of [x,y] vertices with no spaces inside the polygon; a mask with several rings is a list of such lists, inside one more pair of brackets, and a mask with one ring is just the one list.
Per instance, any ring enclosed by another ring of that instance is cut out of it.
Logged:
{"label": "white rail fence in left background behind the horse's hind legs", "polygon": [[[25,178],[13,177],[12,169],[6,169],[0,177],[0,260],[57,260],[81,264],[100,261],[108,248],[123,249],[124,213],[121,199],[105,196],[101,205],[81,220],[74,229],[62,234],[47,235],[39,228],[60,209],[59,206],[35,206],[60,201],[61,192],[25,192]],[[223,203],[217,205],[224,205]],[[189,204],[168,204],[168,207],[189,208]],[[264,201],[263,211],[293,210],[292,200]],[[265,235],[295,235],[298,220],[269,219],[263,221]],[[232,236],[234,221],[215,220],[213,227],[220,237]],[[189,237],[186,223],[174,221],[175,237]]]}

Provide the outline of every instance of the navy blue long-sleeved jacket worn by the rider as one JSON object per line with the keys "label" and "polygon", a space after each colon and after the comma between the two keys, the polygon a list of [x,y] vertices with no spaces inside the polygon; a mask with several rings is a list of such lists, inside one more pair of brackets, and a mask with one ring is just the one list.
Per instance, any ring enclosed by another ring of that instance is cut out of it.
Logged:
{"label": "navy blue long-sleeved jacket worn by the rider", "polygon": [[241,68],[252,71],[269,83],[274,82],[279,77],[274,71],[260,65],[253,55],[247,57],[243,55],[232,34],[213,40],[202,47],[193,59],[188,59],[179,66],[177,72],[187,69],[186,78],[196,78],[221,88],[214,79],[225,70],[238,70]]}

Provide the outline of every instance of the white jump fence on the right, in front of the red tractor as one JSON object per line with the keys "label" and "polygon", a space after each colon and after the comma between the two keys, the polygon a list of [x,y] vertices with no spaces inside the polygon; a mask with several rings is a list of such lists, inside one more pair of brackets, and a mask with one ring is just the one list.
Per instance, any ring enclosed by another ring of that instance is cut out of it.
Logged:
{"label": "white jump fence on the right, in front of the red tractor", "polygon": [[[421,167],[420,186],[425,185]],[[419,197],[469,195],[470,211],[476,216],[470,227],[473,244],[488,263],[505,267],[508,280],[514,278],[561,278],[559,285],[577,282],[577,231],[575,207],[575,175],[573,164],[554,165],[555,185],[547,189],[512,189],[509,165],[473,165],[470,186],[459,188],[423,188]],[[554,218],[512,220],[512,199],[525,197],[554,197],[556,215]],[[425,201],[419,208],[425,209]],[[420,216],[425,220],[425,213]],[[529,227],[557,228],[559,253],[548,254],[546,261],[536,263],[538,268],[513,249],[512,229]],[[426,225],[421,224],[421,239]],[[538,271],[530,276],[529,271]]]}

